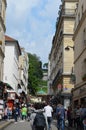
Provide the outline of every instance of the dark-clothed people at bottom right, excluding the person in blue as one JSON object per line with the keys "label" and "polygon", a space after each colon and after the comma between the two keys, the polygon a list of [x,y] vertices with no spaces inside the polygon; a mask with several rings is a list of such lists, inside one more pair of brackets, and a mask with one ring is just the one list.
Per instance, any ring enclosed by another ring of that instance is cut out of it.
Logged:
{"label": "dark-clothed people at bottom right, excluding the person in blue", "polygon": [[76,130],[86,130],[86,104],[77,105],[74,109],[69,106],[67,119],[69,127],[75,127]]}

